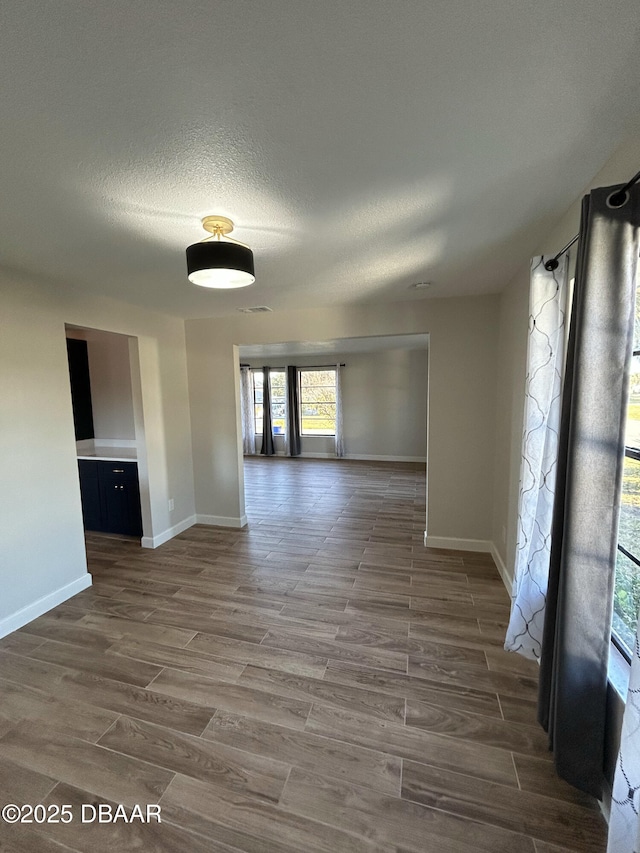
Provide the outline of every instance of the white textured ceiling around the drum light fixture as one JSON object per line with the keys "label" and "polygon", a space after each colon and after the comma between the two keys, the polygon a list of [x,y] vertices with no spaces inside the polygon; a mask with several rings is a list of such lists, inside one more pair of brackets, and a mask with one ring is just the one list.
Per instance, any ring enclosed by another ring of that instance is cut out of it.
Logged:
{"label": "white textured ceiling around the drum light fixture", "polygon": [[[0,264],[184,317],[501,290],[637,129],[637,12],[3,0]],[[253,286],[187,282],[210,213]]]}

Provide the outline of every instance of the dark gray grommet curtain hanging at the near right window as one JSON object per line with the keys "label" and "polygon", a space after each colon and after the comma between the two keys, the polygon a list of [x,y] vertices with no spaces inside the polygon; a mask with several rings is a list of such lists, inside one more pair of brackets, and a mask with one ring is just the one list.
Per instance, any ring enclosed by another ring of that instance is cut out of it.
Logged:
{"label": "dark gray grommet curtain hanging at the near right window", "polygon": [[640,192],[583,200],[562,398],[538,718],[558,774],[602,796]]}

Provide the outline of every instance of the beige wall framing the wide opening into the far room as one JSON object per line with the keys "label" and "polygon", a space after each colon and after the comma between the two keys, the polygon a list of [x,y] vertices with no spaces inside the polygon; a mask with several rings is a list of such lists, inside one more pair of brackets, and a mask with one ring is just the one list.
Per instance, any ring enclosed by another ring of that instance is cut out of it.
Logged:
{"label": "beige wall framing the wide opening into the far room", "polygon": [[429,333],[429,535],[489,540],[498,307],[487,296],[188,320],[198,516],[244,516],[238,346]]}

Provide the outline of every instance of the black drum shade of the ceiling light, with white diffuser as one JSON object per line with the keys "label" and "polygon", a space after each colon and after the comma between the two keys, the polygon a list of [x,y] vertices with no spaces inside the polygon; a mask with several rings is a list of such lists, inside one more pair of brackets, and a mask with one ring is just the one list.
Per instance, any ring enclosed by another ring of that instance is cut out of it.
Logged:
{"label": "black drum shade of the ceiling light, with white diffuser", "polygon": [[194,243],[187,247],[187,276],[200,287],[246,287],[256,280],[253,252],[225,240]]}

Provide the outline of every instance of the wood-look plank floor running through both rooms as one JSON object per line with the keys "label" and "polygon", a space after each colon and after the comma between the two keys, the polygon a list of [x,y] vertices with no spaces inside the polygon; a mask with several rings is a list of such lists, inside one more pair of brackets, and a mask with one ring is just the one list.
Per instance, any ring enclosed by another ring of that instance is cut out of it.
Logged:
{"label": "wood-look plank floor running through both rooms", "polygon": [[93,587],[0,641],[0,803],[163,822],[0,851],[602,853],[491,558],[423,547],[421,467],[252,458],[244,530],[89,534]]}

